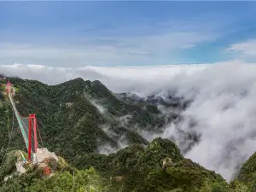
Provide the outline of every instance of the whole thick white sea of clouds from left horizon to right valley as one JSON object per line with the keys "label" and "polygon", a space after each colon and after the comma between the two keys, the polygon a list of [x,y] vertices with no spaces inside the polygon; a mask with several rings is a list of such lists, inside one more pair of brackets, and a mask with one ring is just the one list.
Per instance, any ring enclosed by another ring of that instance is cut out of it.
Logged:
{"label": "whole thick white sea of clouds from left horizon to right valley", "polygon": [[[57,68],[37,65],[0,66],[0,73],[22,79],[38,79],[47,84],[81,77],[102,81],[114,92],[134,92],[139,96],[152,93],[164,96],[167,90],[194,102],[183,113],[179,128],[201,135],[187,158],[230,180],[237,167],[256,151],[256,65],[222,62],[201,65],[173,65],[160,67],[80,67]],[[171,110],[171,109],[170,109]],[[168,113],[168,111],[166,112]],[[195,119],[193,129],[189,119]],[[175,125],[166,125],[160,135],[174,137],[180,148],[188,143],[180,141]]]}

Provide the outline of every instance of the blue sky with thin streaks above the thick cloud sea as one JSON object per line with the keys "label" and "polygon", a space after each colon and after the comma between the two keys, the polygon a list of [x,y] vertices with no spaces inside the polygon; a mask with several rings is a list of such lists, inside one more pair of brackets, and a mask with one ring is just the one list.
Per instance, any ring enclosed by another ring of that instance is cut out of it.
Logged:
{"label": "blue sky with thin streaks above the thick cloud sea", "polygon": [[256,2],[0,2],[0,64],[256,59]]}

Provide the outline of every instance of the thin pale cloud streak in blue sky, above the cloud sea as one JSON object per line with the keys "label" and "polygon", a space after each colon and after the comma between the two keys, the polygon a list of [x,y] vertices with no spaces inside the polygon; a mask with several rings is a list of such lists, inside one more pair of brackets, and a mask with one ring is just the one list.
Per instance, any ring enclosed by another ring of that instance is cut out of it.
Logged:
{"label": "thin pale cloud streak in blue sky, above the cloud sea", "polygon": [[[44,37],[45,38],[45,37]],[[169,61],[172,49],[189,49],[212,40],[212,35],[200,32],[170,32],[143,37],[91,37],[51,39],[41,43],[0,43],[2,64],[37,63],[67,67],[84,65],[154,64],[157,58]],[[29,41],[27,41],[29,42]],[[167,64],[167,63],[166,63]]]}

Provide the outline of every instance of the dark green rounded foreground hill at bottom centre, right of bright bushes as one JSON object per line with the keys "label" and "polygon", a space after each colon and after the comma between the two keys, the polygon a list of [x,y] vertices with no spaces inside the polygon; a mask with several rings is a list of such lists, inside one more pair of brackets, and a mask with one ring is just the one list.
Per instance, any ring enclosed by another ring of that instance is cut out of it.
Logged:
{"label": "dark green rounded foreground hill at bottom centre, right of bright bushes", "polygon": [[[172,159],[173,166],[164,170],[162,163],[166,157]],[[134,144],[108,156],[86,155],[83,162],[109,178],[112,191],[198,191],[207,178],[224,182],[220,175],[184,159],[174,143],[160,138],[146,148]],[[83,168],[80,164],[77,166]],[[121,181],[114,181],[116,177]]]}

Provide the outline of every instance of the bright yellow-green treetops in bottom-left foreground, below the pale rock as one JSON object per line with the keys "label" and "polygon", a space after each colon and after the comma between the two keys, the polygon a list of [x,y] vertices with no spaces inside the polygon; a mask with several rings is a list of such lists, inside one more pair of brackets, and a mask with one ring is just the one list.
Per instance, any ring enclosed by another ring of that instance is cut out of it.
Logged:
{"label": "bright yellow-green treetops in bottom-left foreground, below the pale rock", "polygon": [[[9,160],[6,161],[6,164],[10,164]],[[107,187],[103,185],[102,177],[93,167],[79,171],[69,166],[63,159],[59,161],[56,172],[52,177],[43,177],[41,170],[37,166],[32,166],[24,174],[13,174],[6,182],[2,182],[2,187],[0,187],[1,192],[103,192],[106,189]]]}

